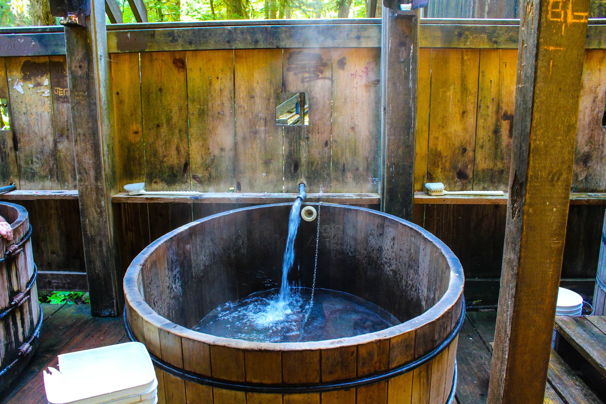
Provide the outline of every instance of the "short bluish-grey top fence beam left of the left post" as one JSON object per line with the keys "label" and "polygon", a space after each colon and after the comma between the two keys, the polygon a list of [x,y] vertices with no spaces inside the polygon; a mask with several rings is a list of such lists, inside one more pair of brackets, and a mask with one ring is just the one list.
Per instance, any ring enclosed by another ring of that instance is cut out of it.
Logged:
{"label": "short bluish-grey top fence beam left of the left post", "polygon": [[0,57],[47,55],[65,55],[65,39],[62,32],[0,35]]}

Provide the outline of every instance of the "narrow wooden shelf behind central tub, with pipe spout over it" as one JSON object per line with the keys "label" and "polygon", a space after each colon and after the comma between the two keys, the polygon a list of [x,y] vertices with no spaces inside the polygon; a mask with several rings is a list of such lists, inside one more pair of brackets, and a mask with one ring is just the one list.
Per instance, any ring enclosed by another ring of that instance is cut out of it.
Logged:
{"label": "narrow wooden shelf behind central tub, with pipe spout over it", "polygon": [[[148,203],[148,202],[185,202],[207,204],[280,204],[293,202],[296,193],[229,193],[208,192],[200,196],[161,196],[161,195],[128,195],[121,192],[112,196],[115,203]],[[305,202],[325,202],[327,204],[378,205],[379,194],[350,193],[308,193]]]}

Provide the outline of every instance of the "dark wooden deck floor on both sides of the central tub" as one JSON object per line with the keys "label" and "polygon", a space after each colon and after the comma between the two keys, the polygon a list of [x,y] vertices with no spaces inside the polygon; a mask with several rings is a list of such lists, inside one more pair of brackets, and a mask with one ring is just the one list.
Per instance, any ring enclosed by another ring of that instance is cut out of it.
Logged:
{"label": "dark wooden deck floor on both sides of the central tub", "polygon": [[[93,319],[88,305],[42,305],[44,323],[38,351],[10,389],[0,394],[0,404],[46,404],[42,369],[56,365],[56,356],[81,349],[127,342],[122,319]],[[468,313],[459,334],[457,362],[459,404],[484,404],[490,377],[490,342],[496,312]],[[555,393],[553,393],[555,394]],[[556,395],[554,404],[562,404]]]}

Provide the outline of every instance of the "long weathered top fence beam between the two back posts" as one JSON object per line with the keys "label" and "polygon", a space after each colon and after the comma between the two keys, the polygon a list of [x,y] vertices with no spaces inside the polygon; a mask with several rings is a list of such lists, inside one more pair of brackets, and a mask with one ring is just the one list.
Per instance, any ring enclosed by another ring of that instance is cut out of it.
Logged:
{"label": "long weathered top fence beam between the two back posts", "polygon": [[108,31],[110,53],[260,48],[378,47],[380,25],[262,25]]}

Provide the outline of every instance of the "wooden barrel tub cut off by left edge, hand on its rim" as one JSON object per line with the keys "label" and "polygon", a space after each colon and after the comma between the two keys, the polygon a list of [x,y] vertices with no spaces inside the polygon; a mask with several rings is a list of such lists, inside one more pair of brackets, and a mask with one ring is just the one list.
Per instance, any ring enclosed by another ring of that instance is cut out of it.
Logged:
{"label": "wooden barrel tub cut off by left edge, hand on its rim", "polygon": [[42,308],[36,289],[32,227],[24,207],[0,202],[0,216],[13,228],[13,240],[0,237],[0,391],[21,373],[38,348]]}

